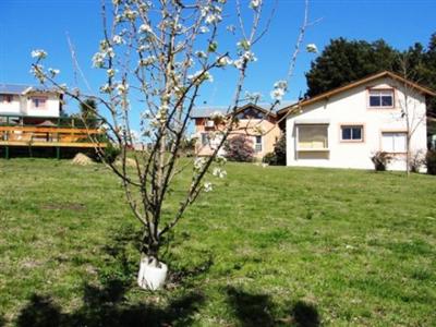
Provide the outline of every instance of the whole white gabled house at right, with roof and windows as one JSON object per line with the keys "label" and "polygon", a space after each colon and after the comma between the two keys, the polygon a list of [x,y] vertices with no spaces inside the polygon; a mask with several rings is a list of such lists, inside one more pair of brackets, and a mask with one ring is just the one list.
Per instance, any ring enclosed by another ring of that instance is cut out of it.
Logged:
{"label": "whole white gabled house at right, with roof and windows", "polygon": [[427,150],[426,97],[433,90],[383,72],[305,99],[287,114],[287,165],[373,169],[371,157],[386,152],[388,169],[405,169],[410,153]]}

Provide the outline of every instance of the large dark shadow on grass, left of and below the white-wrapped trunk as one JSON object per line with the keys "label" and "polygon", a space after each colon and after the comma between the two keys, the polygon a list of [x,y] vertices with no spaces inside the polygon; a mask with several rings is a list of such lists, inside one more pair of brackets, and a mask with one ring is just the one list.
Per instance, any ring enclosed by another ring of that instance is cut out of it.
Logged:
{"label": "large dark shadow on grass, left of and below the white-wrapped trunk", "polygon": [[[143,301],[132,303],[128,292],[136,288],[136,265],[129,259],[126,249],[137,240],[137,233],[131,228],[114,233],[104,252],[109,255],[105,267],[98,272],[99,284],[85,282],[83,286],[83,305],[73,312],[64,312],[52,298],[33,294],[16,319],[17,326],[173,326],[190,325],[204,303],[204,295],[195,290],[170,293],[167,305],[157,305],[150,301],[156,295],[144,292]],[[136,246],[137,244],[135,244]],[[195,274],[208,269],[202,266]],[[181,272],[179,272],[181,274]],[[194,274],[194,272],[193,272]],[[153,300],[153,299],[152,299]]]}

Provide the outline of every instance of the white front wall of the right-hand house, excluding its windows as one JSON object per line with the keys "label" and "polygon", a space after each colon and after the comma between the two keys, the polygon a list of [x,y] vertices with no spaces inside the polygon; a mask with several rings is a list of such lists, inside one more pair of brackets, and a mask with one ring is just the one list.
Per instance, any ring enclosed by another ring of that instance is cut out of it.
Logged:
{"label": "white front wall of the right-hand house, excluding its windows", "polygon": [[[368,108],[367,87],[395,88],[395,108]],[[409,94],[411,90],[409,89]],[[326,100],[308,105],[303,112],[287,119],[287,165],[332,168],[374,169],[371,157],[382,150],[382,131],[405,131],[405,119],[401,118],[403,106],[403,87],[390,78],[373,81],[368,85],[358,86]],[[411,140],[412,152],[426,152],[425,98],[421,94],[410,94],[409,110],[414,112],[414,125],[419,125]],[[423,118],[424,119],[421,119]],[[295,152],[295,120],[328,120],[329,152],[299,153]],[[420,121],[420,123],[419,123]],[[340,125],[362,124],[364,142],[344,143],[340,140]],[[304,156],[304,158],[303,158]],[[388,169],[405,169],[405,156],[396,155]]]}

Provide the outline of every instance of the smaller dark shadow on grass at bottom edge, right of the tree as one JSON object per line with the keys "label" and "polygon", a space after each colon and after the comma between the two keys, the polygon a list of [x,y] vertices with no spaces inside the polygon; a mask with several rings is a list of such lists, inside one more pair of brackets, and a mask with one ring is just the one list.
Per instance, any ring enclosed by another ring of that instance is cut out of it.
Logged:
{"label": "smaller dark shadow on grass at bottom edge, right of the tree", "polygon": [[313,304],[298,301],[291,305],[284,318],[275,316],[278,305],[268,294],[251,294],[233,287],[227,289],[228,302],[243,327],[251,326],[298,326],[318,327],[320,317]]}

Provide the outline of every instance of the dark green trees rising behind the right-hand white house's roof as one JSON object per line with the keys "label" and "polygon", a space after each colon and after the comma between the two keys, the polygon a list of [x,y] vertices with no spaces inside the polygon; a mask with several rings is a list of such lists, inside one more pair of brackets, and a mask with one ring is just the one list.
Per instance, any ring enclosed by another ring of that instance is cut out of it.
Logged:
{"label": "dark green trees rising behind the right-hand white house's roof", "polygon": [[[340,87],[382,71],[403,74],[401,58],[408,57],[409,74],[420,84],[436,89],[436,33],[425,48],[415,43],[404,51],[393,49],[383,39],[365,40],[331,39],[306,73],[306,96]],[[436,98],[428,98],[427,110],[436,117]]]}

